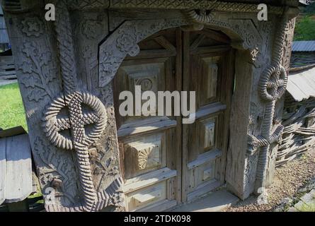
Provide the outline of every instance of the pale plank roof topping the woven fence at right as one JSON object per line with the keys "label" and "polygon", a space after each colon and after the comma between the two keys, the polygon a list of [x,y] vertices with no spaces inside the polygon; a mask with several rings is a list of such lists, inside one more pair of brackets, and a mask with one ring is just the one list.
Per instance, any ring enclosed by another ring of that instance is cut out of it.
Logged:
{"label": "pale plank roof topping the woven fence at right", "polygon": [[315,97],[315,66],[303,71],[290,73],[287,81],[287,92],[296,101]]}

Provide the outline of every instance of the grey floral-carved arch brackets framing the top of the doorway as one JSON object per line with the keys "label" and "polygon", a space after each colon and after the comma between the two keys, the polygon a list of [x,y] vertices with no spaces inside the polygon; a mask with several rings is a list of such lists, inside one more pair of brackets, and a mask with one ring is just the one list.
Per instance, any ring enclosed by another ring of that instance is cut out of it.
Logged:
{"label": "grey floral-carved arch brackets framing the top of the doorway", "polygon": [[[108,37],[100,47],[99,64],[99,87],[108,85],[118,71],[120,64],[127,57],[127,54],[134,57],[139,53],[139,43],[144,38],[167,28],[175,28],[187,25],[188,19],[163,19],[163,20],[127,20]],[[253,25],[252,20],[211,20],[208,25],[215,25],[227,28],[236,33],[245,49],[250,49],[256,59],[257,52],[261,47],[261,37]]]}

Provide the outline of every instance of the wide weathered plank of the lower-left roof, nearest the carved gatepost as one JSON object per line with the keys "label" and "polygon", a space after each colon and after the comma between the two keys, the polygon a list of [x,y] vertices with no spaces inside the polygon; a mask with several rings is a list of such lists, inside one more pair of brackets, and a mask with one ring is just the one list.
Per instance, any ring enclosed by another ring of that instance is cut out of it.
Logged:
{"label": "wide weathered plank of the lower-left roof, nearest the carved gatepost", "polygon": [[6,201],[23,201],[33,190],[32,160],[28,135],[6,141]]}

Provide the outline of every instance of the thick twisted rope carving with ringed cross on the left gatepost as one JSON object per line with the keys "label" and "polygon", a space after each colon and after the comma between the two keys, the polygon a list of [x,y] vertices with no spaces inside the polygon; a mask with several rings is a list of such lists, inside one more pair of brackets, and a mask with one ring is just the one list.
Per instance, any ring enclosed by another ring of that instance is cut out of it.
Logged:
{"label": "thick twisted rope carving with ringed cross on the left gatepost", "polygon": [[[57,46],[59,50],[60,69],[64,84],[64,96],[58,97],[47,107],[44,117],[44,131],[51,143],[58,148],[75,150],[76,161],[79,169],[79,184],[83,194],[83,203],[76,206],[64,207],[47,205],[51,211],[94,211],[100,210],[108,203],[110,195],[103,195],[104,200],[98,200],[99,195],[93,185],[91,162],[88,148],[96,145],[107,125],[107,112],[101,100],[86,92],[79,92],[76,81],[76,62],[74,59],[74,44],[71,37],[69,11],[64,1],[56,1],[57,17],[55,30],[57,34]],[[82,104],[90,107],[93,112],[84,113]],[[61,110],[67,107],[68,117],[60,117]],[[84,126],[93,124],[91,132],[86,134]],[[62,135],[62,131],[69,129],[71,138]],[[117,180],[117,179],[116,179]],[[121,179],[118,179],[121,180]],[[122,182],[114,181],[108,189],[115,187],[116,191]],[[110,190],[110,191],[112,191]],[[103,193],[106,191],[103,191]],[[113,194],[112,194],[113,195]],[[101,203],[100,203],[101,202]]]}

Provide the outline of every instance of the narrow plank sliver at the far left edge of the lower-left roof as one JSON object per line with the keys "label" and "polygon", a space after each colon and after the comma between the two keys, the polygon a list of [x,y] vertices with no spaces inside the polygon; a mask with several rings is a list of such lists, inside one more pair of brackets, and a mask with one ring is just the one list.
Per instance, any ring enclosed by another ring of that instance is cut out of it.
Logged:
{"label": "narrow plank sliver at the far left edge of the lower-left roof", "polygon": [[6,138],[0,139],[0,204],[6,199]]}

